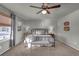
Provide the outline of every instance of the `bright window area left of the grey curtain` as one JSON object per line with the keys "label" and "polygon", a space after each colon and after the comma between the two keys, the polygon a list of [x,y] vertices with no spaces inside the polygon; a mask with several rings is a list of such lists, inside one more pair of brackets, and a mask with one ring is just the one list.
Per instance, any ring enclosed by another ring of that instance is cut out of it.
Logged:
{"label": "bright window area left of the grey curtain", "polygon": [[10,49],[12,40],[11,17],[0,14],[0,54]]}

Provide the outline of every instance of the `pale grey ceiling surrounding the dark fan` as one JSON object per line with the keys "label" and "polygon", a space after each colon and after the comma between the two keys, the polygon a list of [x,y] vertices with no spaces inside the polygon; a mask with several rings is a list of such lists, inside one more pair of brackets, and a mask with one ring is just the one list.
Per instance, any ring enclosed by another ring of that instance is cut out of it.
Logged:
{"label": "pale grey ceiling surrounding the dark fan", "polygon": [[[12,10],[17,16],[22,17],[24,20],[58,20],[79,9],[79,4],[61,3],[60,8],[51,9],[51,14],[43,15],[41,13],[36,14],[38,11],[40,11],[40,9],[29,7],[30,5],[41,6],[41,3],[4,3],[2,5]],[[54,5],[54,3],[49,5]]]}

